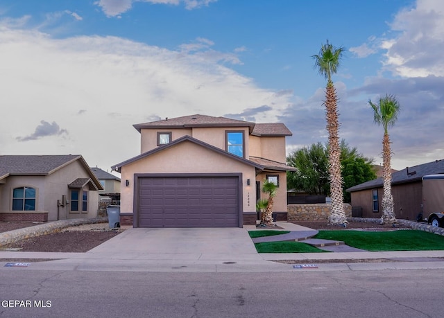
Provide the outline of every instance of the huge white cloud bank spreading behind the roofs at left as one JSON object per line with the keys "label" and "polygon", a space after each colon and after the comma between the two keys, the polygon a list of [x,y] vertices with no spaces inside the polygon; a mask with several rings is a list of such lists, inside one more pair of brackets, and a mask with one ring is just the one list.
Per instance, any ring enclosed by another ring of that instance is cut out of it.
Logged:
{"label": "huge white cloud bank spreading behind the roofs at left", "polygon": [[[83,154],[93,166],[110,167],[139,154],[135,123],[244,109],[257,109],[258,122],[273,122],[291,98],[214,62],[212,50],[208,58],[205,51],[170,51],[119,37],[53,39],[37,30],[0,28],[0,104],[8,109],[0,126],[3,154]],[[53,134],[19,142],[34,136],[36,116],[51,118],[53,124],[40,128]],[[69,135],[58,134],[65,130]]]}

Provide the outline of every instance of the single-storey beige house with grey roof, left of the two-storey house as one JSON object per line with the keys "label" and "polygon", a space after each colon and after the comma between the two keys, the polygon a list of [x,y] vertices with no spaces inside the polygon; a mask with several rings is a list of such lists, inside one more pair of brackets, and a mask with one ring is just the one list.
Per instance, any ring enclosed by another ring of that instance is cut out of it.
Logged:
{"label": "single-storey beige house with grey roof, left of the two-storey house", "polygon": [[0,221],[96,218],[101,189],[80,155],[0,156]]}

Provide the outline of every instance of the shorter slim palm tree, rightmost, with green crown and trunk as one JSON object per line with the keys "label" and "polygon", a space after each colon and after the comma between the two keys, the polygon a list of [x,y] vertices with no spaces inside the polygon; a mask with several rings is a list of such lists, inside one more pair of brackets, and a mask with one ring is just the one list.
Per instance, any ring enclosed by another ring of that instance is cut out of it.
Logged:
{"label": "shorter slim palm tree, rightmost, with green crown and trunk", "polygon": [[379,98],[377,105],[373,104],[371,100],[368,100],[368,103],[373,108],[375,123],[384,127],[384,137],[382,139],[382,177],[384,179],[384,195],[381,201],[381,223],[395,224],[397,220],[393,209],[393,196],[391,195],[391,150],[388,127],[395,125],[400,112],[400,104],[395,96],[388,94]]}

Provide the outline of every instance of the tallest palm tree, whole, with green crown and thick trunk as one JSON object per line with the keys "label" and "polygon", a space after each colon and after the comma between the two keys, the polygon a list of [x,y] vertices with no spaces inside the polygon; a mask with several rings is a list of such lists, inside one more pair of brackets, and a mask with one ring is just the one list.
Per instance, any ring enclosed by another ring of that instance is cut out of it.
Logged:
{"label": "tallest palm tree, whole, with green crown and thick trunk", "polygon": [[341,177],[341,148],[339,146],[339,121],[338,100],[334,88],[332,75],[338,71],[341,57],[345,48],[335,48],[327,40],[321,46],[319,54],[313,55],[318,72],[327,79],[325,89],[325,118],[328,132],[328,173],[330,178],[330,193],[332,197],[332,209],[330,211],[329,224],[347,225],[343,206],[343,189]]}

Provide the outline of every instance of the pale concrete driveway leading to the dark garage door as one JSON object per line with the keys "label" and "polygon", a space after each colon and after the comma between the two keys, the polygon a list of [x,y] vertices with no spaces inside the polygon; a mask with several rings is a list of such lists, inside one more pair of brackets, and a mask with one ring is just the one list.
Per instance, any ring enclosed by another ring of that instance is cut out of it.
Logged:
{"label": "pale concrete driveway leading to the dark garage door", "polygon": [[262,259],[246,229],[130,228],[88,251],[94,254],[152,254],[159,258]]}

